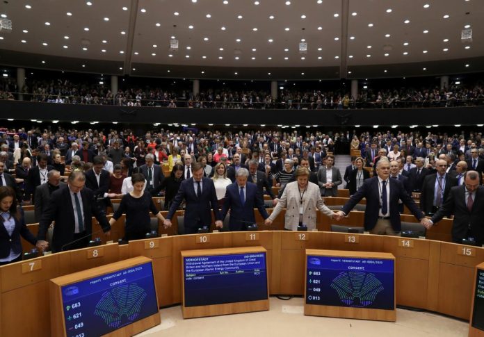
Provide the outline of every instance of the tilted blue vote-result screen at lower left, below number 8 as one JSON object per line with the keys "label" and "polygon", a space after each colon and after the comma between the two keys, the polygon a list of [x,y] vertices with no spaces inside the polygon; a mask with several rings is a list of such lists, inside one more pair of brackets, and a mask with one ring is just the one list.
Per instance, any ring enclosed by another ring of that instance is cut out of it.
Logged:
{"label": "tilted blue vote-result screen at lower left, below number 8", "polygon": [[66,336],[101,336],[158,312],[152,264],[61,288]]}

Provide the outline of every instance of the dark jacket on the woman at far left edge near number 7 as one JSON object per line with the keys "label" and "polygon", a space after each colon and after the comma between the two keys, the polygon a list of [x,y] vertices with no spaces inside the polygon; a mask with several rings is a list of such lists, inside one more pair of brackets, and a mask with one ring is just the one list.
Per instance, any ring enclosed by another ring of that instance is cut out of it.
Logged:
{"label": "dark jacket on the woman at far left edge near number 7", "polygon": [[37,239],[26,227],[24,221],[24,214],[21,211],[22,217],[20,220],[14,216],[15,228],[13,229],[12,236],[8,235],[8,231],[3,225],[3,221],[0,222],[0,258],[6,258],[10,255],[10,249],[13,250],[15,254],[22,254],[22,240],[20,236],[25,240],[29,241],[32,245],[37,243]]}

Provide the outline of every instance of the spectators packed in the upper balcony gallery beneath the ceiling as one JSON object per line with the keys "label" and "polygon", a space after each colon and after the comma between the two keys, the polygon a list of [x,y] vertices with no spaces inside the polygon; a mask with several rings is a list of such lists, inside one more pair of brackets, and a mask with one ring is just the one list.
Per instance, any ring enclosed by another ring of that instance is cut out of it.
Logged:
{"label": "spectators packed in the upper balcony gallery beneath the ceiling", "polygon": [[193,95],[191,88],[120,88],[111,92],[104,84],[72,83],[67,80],[26,81],[19,90],[15,79],[3,79],[0,99],[15,99],[22,93],[25,101],[58,104],[102,104],[118,106],[157,106],[184,108],[261,108],[261,109],[354,109],[354,108],[430,108],[476,106],[484,104],[484,85],[451,84],[449,88],[380,88],[360,90],[353,97],[348,90],[280,90],[272,97],[267,90],[202,90]]}

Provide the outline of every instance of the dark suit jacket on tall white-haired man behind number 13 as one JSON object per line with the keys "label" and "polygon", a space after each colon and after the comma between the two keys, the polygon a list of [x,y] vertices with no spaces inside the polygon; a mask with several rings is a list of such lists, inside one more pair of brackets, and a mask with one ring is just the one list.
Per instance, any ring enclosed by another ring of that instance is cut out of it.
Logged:
{"label": "dark suit jacket on tall white-haired man behind number 13", "polygon": [[[390,184],[389,199],[389,216],[390,223],[394,231],[401,231],[400,213],[398,207],[398,200],[401,200],[403,204],[407,205],[410,212],[421,220],[424,215],[419,210],[413,199],[409,197],[401,181],[398,179],[388,179]],[[378,176],[373,176],[371,179],[366,179],[360,190],[350,197],[348,202],[343,206],[341,211],[348,214],[355,205],[360,202],[361,199],[366,198],[366,210],[364,211],[364,229],[370,231],[375,227],[378,221],[378,213],[380,212],[380,188],[378,185]]]}

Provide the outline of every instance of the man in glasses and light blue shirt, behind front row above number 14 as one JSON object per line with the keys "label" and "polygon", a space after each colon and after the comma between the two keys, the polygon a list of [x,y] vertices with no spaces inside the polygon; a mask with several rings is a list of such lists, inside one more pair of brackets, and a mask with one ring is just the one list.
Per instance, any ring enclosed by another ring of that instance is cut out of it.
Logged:
{"label": "man in glasses and light blue shirt, behind front row above number 14", "polygon": [[428,174],[422,183],[420,209],[425,214],[433,214],[447,199],[451,187],[457,185],[457,180],[446,174],[447,162],[439,159],[436,163],[437,173]]}

